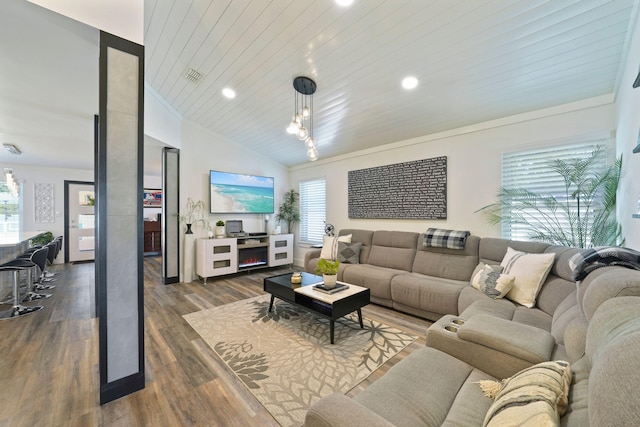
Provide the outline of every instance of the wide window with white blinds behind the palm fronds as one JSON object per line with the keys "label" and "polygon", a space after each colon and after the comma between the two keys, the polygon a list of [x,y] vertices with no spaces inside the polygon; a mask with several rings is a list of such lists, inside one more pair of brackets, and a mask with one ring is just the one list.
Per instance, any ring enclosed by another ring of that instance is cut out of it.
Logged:
{"label": "wide window with white blinds behind the palm fronds", "polygon": [[[606,153],[607,140],[591,140],[562,146],[546,147],[543,149],[505,153],[502,155],[502,187],[505,189],[526,189],[537,194],[550,195],[555,197],[560,203],[571,206],[573,211],[578,207],[578,201],[567,197],[565,182],[558,172],[554,171],[551,162],[555,159],[572,160],[586,159],[598,149],[603,149]],[[596,162],[596,169],[604,170],[608,166],[609,157],[599,156]],[[570,196],[570,195],[569,195]],[[524,199],[522,199],[524,200]],[[514,198],[511,203],[517,203]],[[582,200],[583,206],[585,200]],[[504,208],[503,217],[509,217],[508,208]],[[522,215],[529,224],[544,224],[546,218],[557,220],[557,228],[563,231],[570,229],[568,219],[561,215],[541,208],[519,210],[515,215]],[[516,221],[517,222],[517,221]],[[531,240],[531,227],[527,224],[512,223],[502,221],[502,237],[513,240]]]}

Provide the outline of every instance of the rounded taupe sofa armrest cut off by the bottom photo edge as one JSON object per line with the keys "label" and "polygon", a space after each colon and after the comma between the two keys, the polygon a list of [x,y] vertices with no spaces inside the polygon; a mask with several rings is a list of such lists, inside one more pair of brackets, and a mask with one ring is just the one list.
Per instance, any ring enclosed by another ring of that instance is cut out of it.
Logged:
{"label": "rounded taupe sofa armrest cut off by the bottom photo edge", "polygon": [[393,427],[393,424],[352,398],[334,393],[309,408],[304,426]]}

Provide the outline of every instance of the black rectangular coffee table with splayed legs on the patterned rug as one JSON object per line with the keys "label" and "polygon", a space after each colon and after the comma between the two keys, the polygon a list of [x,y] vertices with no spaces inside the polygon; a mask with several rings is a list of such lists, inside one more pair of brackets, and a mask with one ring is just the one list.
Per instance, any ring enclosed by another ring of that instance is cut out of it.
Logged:
{"label": "black rectangular coffee table with splayed legs on the patterned rug", "polygon": [[333,344],[334,323],[342,316],[357,311],[360,327],[364,328],[361,308],[370,302],[371,291],[368,288],[345,283],[349,286],[348,289],[335,294],[326,294],[313,289],[313,285],[322,283],[321,276],[302,273],[302,283],[294,285],[291,283],[291,275],[292,273],[286,273],[264,279],[264,290],[271,294],[269,311],[273,308],[273,300],[278,297],[329,319],[331,344]]}

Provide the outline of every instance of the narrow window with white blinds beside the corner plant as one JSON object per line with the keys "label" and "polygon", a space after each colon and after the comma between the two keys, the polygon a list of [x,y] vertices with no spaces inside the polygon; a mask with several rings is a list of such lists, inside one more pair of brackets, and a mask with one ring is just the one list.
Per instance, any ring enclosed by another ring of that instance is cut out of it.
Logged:
{"label": "narrow window with white blinds beside the corner plant", "polygon": [[326,213],[324,178],[300,183],[300,242],[322,243]]}

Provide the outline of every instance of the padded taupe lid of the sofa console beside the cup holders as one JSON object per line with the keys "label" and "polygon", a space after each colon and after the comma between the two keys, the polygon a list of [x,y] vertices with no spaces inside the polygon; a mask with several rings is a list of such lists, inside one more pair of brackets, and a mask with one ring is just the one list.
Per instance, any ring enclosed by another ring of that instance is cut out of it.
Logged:
{"label": "padded taupe lid of the sofa console beside the cup holders", "polygon": [[555,345],[551,333],[534,326],[476,314],[458,328],[458,338],[507,353],[533,364],[549,360]]}

